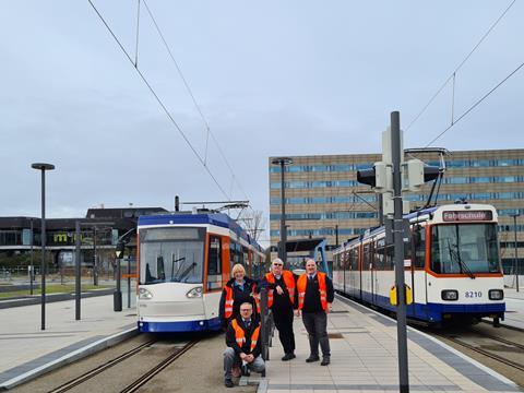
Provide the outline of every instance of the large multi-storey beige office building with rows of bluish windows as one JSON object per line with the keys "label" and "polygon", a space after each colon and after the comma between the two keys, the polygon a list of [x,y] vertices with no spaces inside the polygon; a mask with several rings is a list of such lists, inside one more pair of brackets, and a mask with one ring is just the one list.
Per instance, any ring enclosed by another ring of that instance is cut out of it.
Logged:
{"label": "large multi-storey beige office building with rows of bluish windows", "polygon": [[[437,153],[416,158],[439,165]],[[272,251],[279,240],[281,167],[270,171],[270,230]],[[379,223],[378,199],[369,186],[357,182],[357,170],[371,168],[380,154],[290,156],[285,167],[286,224],[288,240],[325,237],[327,250],[362,234]],[[406,156],[406,159],[409,157]],[[514,271],[515,242],[520,274],[524,273],[524,150],[457,151],[445,156],[445,175],[437,203],[492,204],[499,212],[501,259],[507,273]],[[410,209],[424,206],[431,184],[419,193],[405,194]],[[514,224],[516,216],[516,226]],[[331,246],[331,247],[330,247]],[[276,255],[273,253],[272,257]],[[329,258],[331,253],[329,252]]]}

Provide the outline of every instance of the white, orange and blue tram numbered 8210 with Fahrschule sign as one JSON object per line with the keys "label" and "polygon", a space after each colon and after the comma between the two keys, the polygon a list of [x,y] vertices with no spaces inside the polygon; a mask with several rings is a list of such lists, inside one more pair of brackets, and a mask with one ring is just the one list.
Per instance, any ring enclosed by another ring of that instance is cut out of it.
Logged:
{"label": "white, orange and blue tram numbered 8210 with Fahrschule sign", "polygon": [[[442,325],[450,320],[503,320],[503,273],[497,238],[497,211],[483,204],[453,204],[405,215],[410,243],[405,243],[405,282],[413,290],[407,317]],[[334,252],[335,289],[395,311],[393,246],[384,227],[348,241]]]}

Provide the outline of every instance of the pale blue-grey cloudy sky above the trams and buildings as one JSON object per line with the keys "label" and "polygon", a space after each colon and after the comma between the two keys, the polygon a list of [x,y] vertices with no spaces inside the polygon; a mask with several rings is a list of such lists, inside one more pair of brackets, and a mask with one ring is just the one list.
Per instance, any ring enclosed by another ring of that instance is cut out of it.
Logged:
{"label": "pale blue-grey cloudy sky above the trams and buildings", "polygon": [[[269,156],[379,152],[390,112],[406,129],[511,3],[142,1],[138,69],[177,129],[87,0],[2,1],[0,215],[39,215],[35,162],[57,167],[50,217],[172,209],[175,194],[267,212]],[[134,62],[138,0],[93,4]],[[456,72],[455,118],[524,61],[523,15],[516,1]],[[433,145],[523,147],[523,92],[524,69]],[[450,82],[405,146],[442,132],[451,103]]]}

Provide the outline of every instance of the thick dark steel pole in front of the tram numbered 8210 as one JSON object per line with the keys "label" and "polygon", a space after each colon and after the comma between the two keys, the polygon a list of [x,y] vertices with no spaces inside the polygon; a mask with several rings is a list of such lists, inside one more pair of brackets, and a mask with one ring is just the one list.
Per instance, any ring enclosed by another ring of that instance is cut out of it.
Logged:
{"label": "thick dark steel pole in front of the tram numbered 8210", "polygon": [[401,176],[401,116],[391,112],[391,148],[393,162],[393,241],[395,255],[395,282],[397,293],[396,335],[398,347],[398,382],[400,392],[409,392],[406,333],[406,297],[404,288],[404,242],[402,211],[402,176]]}

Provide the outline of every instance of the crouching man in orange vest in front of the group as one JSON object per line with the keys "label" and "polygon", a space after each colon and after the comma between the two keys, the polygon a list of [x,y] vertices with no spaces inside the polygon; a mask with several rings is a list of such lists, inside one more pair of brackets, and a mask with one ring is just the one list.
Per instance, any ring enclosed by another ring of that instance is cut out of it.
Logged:
{"label": "crouching man in orange vest in front of the group", "polygon": [[253,315],[253,306],[250,302],[240,305],[240,315],[234,319],[226,331],[224,350],[225,385],[233,388],[231,369],[242,362],[254,372],[263,372],[264,360],[261,355],[260,321]]}

